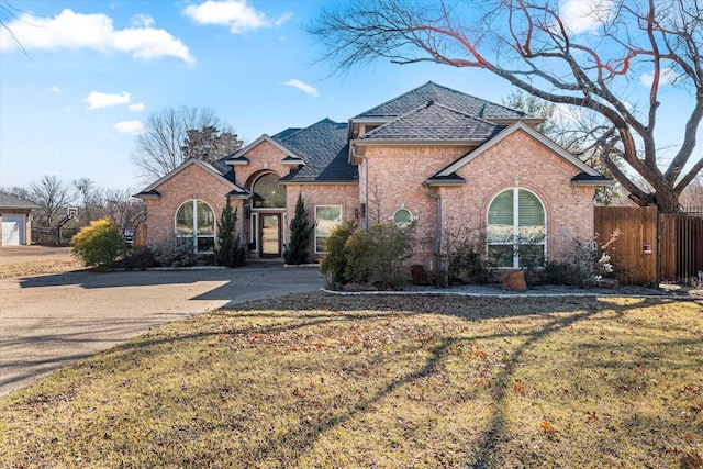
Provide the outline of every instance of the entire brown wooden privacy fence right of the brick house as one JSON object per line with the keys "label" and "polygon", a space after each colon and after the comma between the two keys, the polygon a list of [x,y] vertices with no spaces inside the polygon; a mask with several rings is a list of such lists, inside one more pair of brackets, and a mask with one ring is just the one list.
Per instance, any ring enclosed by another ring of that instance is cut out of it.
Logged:
{"label": "entire brown wooden privacy fence right of the brick house", "polygon": [[656,206],[596,206],[599,243],[620,230],[613,263],[623,283],[687,282],[703,271],[703,208],[659,213]]}

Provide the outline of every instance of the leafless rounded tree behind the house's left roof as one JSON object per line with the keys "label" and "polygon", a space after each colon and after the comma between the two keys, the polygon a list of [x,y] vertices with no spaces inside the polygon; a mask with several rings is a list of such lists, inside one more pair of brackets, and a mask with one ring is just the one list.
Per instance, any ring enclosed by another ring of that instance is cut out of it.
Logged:
{"label": "leafless rounded tree behind the house's left roof", "polygon": [[[167,175],[182,164],[194,152],[186,154],[188,131],[215,129],[233,134],[210,108],[168,108],[149,115],[145,131],[136,137],[136,149],[132,161],[145,181],[153,181]],[[214,135],[219,135],[217,132]],[[202,154],[197,155],[200,159]]]}

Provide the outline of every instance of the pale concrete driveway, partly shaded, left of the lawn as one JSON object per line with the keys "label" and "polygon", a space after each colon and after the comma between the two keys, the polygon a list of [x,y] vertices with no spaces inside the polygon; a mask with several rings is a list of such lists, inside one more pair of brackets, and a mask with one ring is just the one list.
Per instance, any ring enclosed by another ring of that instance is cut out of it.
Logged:
{"label": "pale concrete driveway, partly shaded, left of the lawn", "polygon": [[0,280],[0,395],[166,322],[322,286],[280,264]]}

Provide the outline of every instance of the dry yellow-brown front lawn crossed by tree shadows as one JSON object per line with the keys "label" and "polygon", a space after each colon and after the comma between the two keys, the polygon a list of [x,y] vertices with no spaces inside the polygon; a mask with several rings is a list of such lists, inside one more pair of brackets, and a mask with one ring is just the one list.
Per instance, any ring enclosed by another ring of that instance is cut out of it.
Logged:
{"label": "dry yellow-brown front lawn crossed by tree shadows", "polygon": [[[0,400],[7,467],[695,467],[703,311],[301,294],[164,326]],[[700,459],[698,459],[700,460]]]}

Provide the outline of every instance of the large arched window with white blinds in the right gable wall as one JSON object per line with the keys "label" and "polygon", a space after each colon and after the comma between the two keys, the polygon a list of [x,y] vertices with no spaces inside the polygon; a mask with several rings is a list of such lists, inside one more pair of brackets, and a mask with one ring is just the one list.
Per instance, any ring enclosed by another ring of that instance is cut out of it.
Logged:
{"label": "large arched window with white blinds in the right gable wall", "polygon": [[524,189],[509,189],[488,210],[488,260],[502,268],[544,266],[547,227],[542,201]]}

